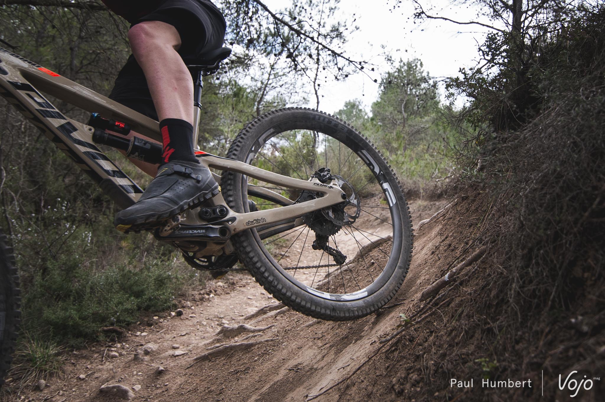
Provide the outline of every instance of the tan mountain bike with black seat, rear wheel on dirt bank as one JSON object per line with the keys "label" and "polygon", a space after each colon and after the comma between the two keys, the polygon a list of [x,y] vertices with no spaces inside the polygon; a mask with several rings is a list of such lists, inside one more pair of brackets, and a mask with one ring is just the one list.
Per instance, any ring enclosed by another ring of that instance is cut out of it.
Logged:
{"label": "tan mountain bike with black seat, rear wheel on dirt bank", "polygon": [[[185,60],[194,80],[194,144],[203,77],[230,53],[220,48]],[[161,141],[158,122],[4,48],[0,96],[121,208],[143,190],[99,147],[160,162],[161,146],[149,140]],[[66,117],[46,96],[92,113],[90,120]],[[150,228],[192,267],[218,276],[241,262],[284,305],[324,320],[367,316],[401,287],[412,251],[409,208],[385,158],[352,126],[312,109],[279,109],[248,123],[226,157],[195,154],[221,172],[213,173],[221,192]],[[0,378],[19,320],[7,242],[0,236]]]}

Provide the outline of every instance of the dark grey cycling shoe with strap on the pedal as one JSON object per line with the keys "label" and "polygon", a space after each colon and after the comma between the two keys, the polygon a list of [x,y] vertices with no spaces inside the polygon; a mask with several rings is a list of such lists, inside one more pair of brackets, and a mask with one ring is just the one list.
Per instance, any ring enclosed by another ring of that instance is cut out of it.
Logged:
{"label": "dark grey cycling shoe with strap on the pedal", "polygon": [[218,184],[208,167],[189,161],[170,161],[160,165],[139,201],[117,213],[114,224],[120,232],[154,229],[218,192]]}

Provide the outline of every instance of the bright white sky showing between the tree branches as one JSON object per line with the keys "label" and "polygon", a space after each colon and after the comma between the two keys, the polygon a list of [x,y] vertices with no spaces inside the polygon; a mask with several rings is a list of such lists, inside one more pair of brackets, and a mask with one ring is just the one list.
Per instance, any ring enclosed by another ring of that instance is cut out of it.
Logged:
{"label": "bright white sky showing between the tree branches", "polygon": [[[441,15],[457,21],[477,21],[476,11],[472,8],[451,7],[450,0],[427,0]],[[289,0],[266,0],[272,10],[279,10]],[[370,105],[378,96],[380,74],[388,71],[388,65],[381,54],[391,54],[394,59],[418,58],[424,63],[425,71],[433,77],[456,76],[461,66],[474,65],[477,57],[477,42],[481,44],[486,28],[479,25],[457,25],[451,22],[430,20],[419,24],[413,21],[413,2],[404,0],[400,8],[391,8],[395,0],[341,0],[340,15],[348,21],[353,13],[359,30],[348,37],[345,44],[347,56],[353,60],[365,60],[375,64],[376,72],[355,74],[345,82],[325,82],[321,85],[319,109],[335,112],[344,102],[361,99],[369,111]],[[428,8],[425,7],[425,10]],[[428,11],[427,11],[428,12]],[[385,45],[383,51],[381,46]],[[368,66],[369,67],[369,66]],[[443,95],[443,90],[441,91]],[[315,107],[315,100],[309,102]]]}

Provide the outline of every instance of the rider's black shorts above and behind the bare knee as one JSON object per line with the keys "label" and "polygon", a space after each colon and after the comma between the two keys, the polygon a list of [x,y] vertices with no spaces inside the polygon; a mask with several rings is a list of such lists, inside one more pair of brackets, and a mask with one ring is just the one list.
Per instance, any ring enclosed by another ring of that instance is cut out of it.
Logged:
{"label": "rider's black shorts above and behind the bare knee", "polygon": [[[132,25],[143,21],[162,21],[175,27],[181,37],[178,54],[183,58],[198,57],[223,46],[225,20],[207,0],[166,0]],[[109,98],[158,120],[147,80],[132,54],[120,70]]]}

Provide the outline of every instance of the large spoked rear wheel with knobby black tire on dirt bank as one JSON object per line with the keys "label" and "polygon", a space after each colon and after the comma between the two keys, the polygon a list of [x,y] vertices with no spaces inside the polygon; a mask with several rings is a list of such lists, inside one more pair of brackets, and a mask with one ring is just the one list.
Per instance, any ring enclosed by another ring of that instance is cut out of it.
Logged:
{"label": "large spoked rear wheel with knobby black tire on dirt bank", "polygon": [[[301,180],[335,180],[346,194],[342,204],[232,237],[240,261],[276,299],[319,319],[350,320],[399,290],[411,259],[410,214],[393,170],[367,138],[336,117],[287,108],[247,125],[227,157]],[[223,172],[221,186],[236,212],[320,196],[235,172]]]}

